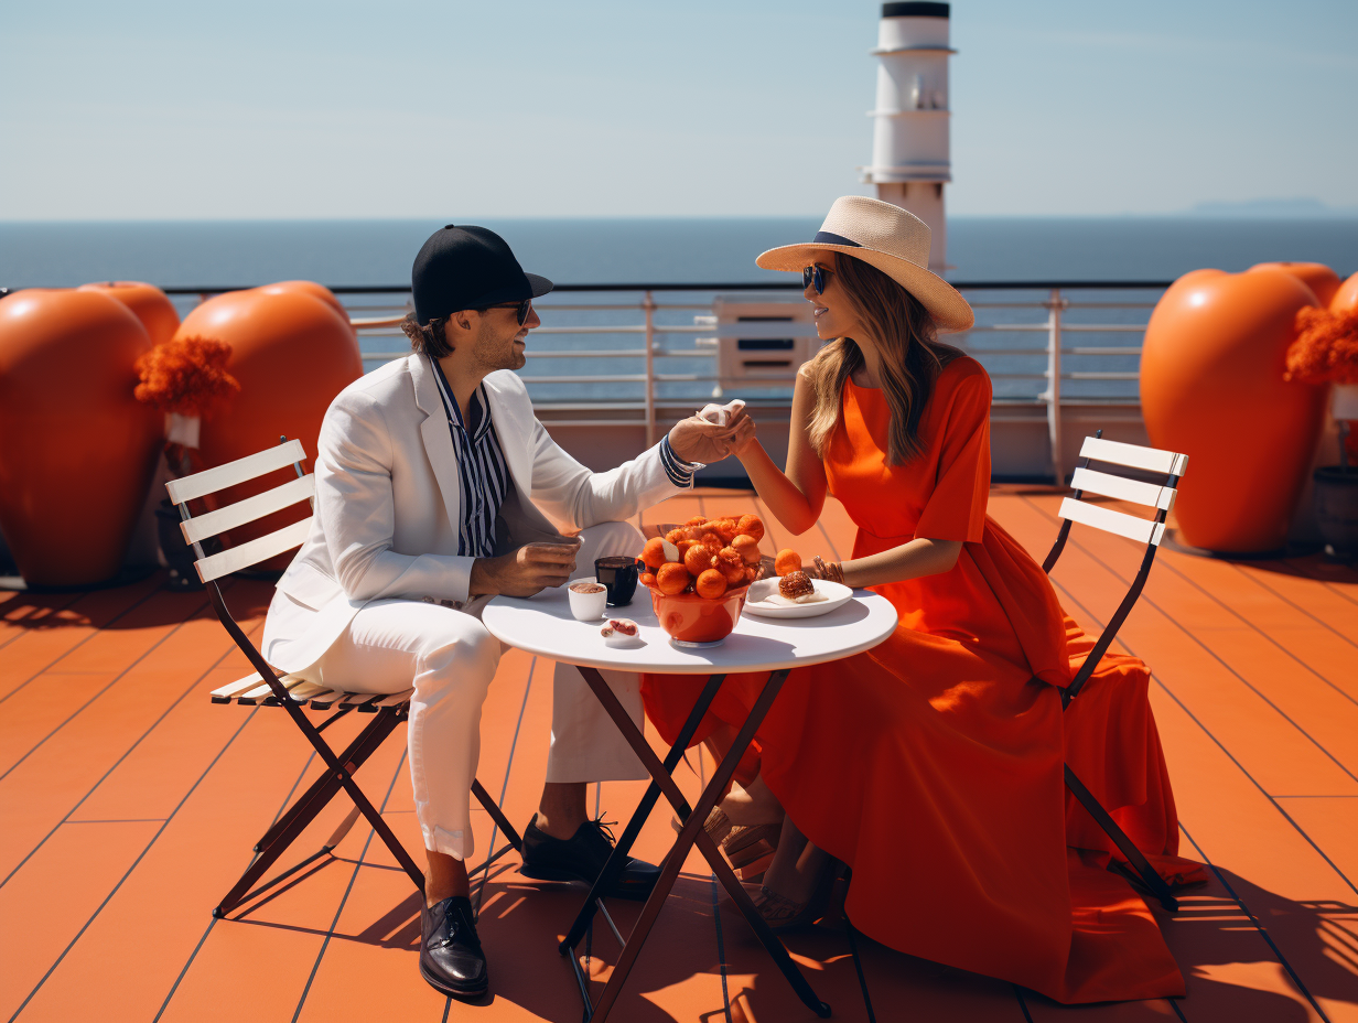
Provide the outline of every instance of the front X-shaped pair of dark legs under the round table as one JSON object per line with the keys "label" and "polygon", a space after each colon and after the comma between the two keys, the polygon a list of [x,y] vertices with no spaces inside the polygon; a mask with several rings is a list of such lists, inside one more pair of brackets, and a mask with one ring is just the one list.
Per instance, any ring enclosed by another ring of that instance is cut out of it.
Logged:
{"label": "front X-shaped pair of dark legs under the round table", "polygon": [[[687,808],[687,800],[683,797],[683,793],[679,791],[675,780],[665,772],[664,765],[660,762],[660,758],[656,757],[655,750],[652,750],[649,743],[646,743],[645,736],[633,723],[631,716],[627,715],[627,712],[618,702],[618,697],[614,696],[608,683],[604,682],[603,677],[593,668],[580,668],[580,672],[584,675],[585,682],[589,683],[589,687],[608,712],[608,716],[614,719],[614,723],[618,725],[623,738],[641,758],[646,770],[650,772],[650,777],[660,785],[665,799],[668,799],[671,806],[682,814],[683,811],[680,811],[680,807]],[[801,970],[799,970],[796,963],[792,962],[792,956],[788,955],[788,950],[784,948],[782,943],[777,939],[773,931],[770,931],[763,917],[760,917],[759,912],[755,909],[754,902],[751,902],[750,895],[740,886],[740,882],[736,880],[736,875],[732,872],[725,859],[722,859],[721,852],[717,849],[717,844],[712,841],[712,836],[703,830],[708,814],[721,799],[721,793],[725,791],[727,784],[736,773],[736,766],[740,764],[740,758],[750,746],[750,740],[754,739],[755,730],[763,721],[765,715],[773,705],[773,701],[778,696],[778,690],[782,689],[782,683],[786,678],[788,670],[774,671],[769,675],[769,681],[765,683],[763,692],[759,694],[750,716],[746,719],[740,732],[736,735],[731,750],[728,750],[725,758],[717,766],[712,780],[708,783],[702,796],[698,799],[698,804],[686,815],[679,837],[675,840],[675,845],[671,849],[669,856],[665,857],[665,863],[660,869],[660,878],[656,882],[656,887],[646,899],[646,903],[641,910],[641,916],[637,920],[637,925],[627,936],[627,943],[623,946],[622,952],[618,956],[618,963],[614,966],[608,984],[599,996],[599,1001],[593,1007],[587,1007],[587,1015],[591,1019],[603,1023],[608,1011],[618,1000],[618,994],[621,993],[623,984],[626,984],[627,975],[631,973],[631,967],[636,965],[637,955],[641,952],[650,929],[655,927],[656,918],[660,916],[660,909],[679,876],[679,869],[683,867],[683,861],[687,857],[689,850],[695,844],[702,852],[703,859],[706,859],[708,864],[712,867],[717,880],[721,882],[722,887],[731,895],[736,908],[740,910],[740,914],[746,918],[746,922],[750,924],[750,928],[755,932],[759,943],[773,958],[774,963],[778,966],[792,989],[818,1016],[824,1019],[830,1015],[830,1005],[820,1001],[815,990],[812,990],[811,984],[801,974]]]}

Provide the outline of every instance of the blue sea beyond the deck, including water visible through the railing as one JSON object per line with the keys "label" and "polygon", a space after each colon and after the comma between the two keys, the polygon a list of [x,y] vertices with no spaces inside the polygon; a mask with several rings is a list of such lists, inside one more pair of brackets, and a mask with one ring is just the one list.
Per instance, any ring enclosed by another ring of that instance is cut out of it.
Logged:
{"label": "blue sea beyond the deck, including water visible through the railing", "polygon": [[[760,270],[755,255],[777,245],[809,239],[819,217],[769,219],[483,219],[513,247],[523,266],[559,284],[682,284],[786,283],[790,274]],[[437,220],[296,220],[296,221],[179,221],[179,223],[4,223],[0,224],[0,287],[11,289],[67,287],[96,280],[143,280],[162,287],[216,289],[308,279],[333,287],[405,285],[410,262]],[[955,217],[948,224],[949,277],[967,281],[1043,280],[1172,280],[1188,270],[1215,266],[1243,270],[1274,259],[1315,261],[1347,276],[1358,270],[1358,219],[1225,220],[1219,217]],[[786,292],[796,300],[794,292]],[[695,303],[713,293],[657,295],[659,327],[687,327],[661,333],[661,349],[687,349]],[[1046,337],[1033,333],[1047,312],[1044,292],[972,292],[979,302],[976,331],[960,342],[990,371],[997,398],[1031,401],[1044,387]],[[1141,303],[1133,308],[1070,308],[1067,325],[1143,325],[1158,291],[1066,292],[1078,303]],[[175,296],[181,312],[197,295]],[[360,315],[380,314],[403,296],[349,296]],[[580,303],[631,303],[627,310],[572,311]],[[581,382],[598,374],[637,374],[641,360],[636,334],[553,333],[550,327],[579,330],[589,325],[637,325],[640,296],[561,293],[539,303],[546,331],[534,336],[523,371],[530,394],[540,403],[641,401],[636,382]],[[997,307],[995,303],[1021,303]],[[664,306],[675,306],[665,308]],[[549,311],[550,310],[550,311]],[[1005,330],[1006,325],[1027,325]],[[1124,379],[1070,379],[1066,397],[1137,397],[1139,336],[1090,331],[1069,334],[1067,344],[1128,345],[1128,355],[1069,355],[1065,370],[1118,372]],[[373,356],[406,346],[399,331],[367,333],[363,351]],[[561,357],[572,349],[617,349],[606,367],[598,359]],[[669,375],[710,375],[712,357],[667,357],[657,370]],[[546,378],[566,376],[570,380]],[[542,378],[542,379],[539,379]],[[703,380],[656,384],[660,399],[695,401],[713,397]],[[732,391],[733,394],[733,391]],[[782,399],[785,387],[756,389],[751,398]]]}

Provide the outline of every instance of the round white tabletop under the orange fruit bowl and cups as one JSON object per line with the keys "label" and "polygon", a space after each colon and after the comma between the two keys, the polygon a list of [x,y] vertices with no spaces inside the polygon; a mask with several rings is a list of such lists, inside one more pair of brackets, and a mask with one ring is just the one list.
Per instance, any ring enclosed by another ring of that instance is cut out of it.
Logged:
{"label": "round white tabletop under the orange fruit bowl and cups", "polygon": [[607,618],[579,622],[570,617],[565,586],[531,598],[497,596],[485,606],[481,621],[502,643],[551,660],[668,675],[775,671],[838,660],[872,649],[896,628],[896,609],[870,590],[856,590],[847,603],[813,618],[741,614],[735,632],[716,647],[674,645],[656,620],[645,587],[637,588],[626,607],[610,607],[608,617],[637,622],[641,643],[630,648],[604,645],[599,629]]}

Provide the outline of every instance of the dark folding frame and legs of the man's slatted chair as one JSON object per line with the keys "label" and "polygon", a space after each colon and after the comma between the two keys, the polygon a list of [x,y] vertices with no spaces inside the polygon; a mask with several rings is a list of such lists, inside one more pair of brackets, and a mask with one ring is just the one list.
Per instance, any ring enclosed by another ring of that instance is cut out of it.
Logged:
{"label": "dark folding frame and legs of the man's slatted chair", "polygon": [[[280,443],[287,443],[287,437],[278,437],[278,440]],[[297,477],[303,477],[304,473],[301,470],[301,463],[293,462],[292,465]],[[191,515],[189,512],[189,500],[185,499],[178,501],[178,507],[181,519],[185,523],[190,522]],[[197,541],[193,541],[193,546],[197,556],[202,558],[202,546]],[[349,833],[349,829],[354,825],[360,815],[367,818],[368,823],[372,825],[372,830],[376,831],[379,838],[382,838],[387,849],[391,850],[391,855],[397,857],[397,863],[399,863],[402,869],[405,869],[416,889],[424,891],[424,871],[416,865],[410,853],[406,852],[406,848],[387,826],[387,822],[382,819],[382,814],[372,806],[353,778],[354,772],[357,772],[359,768],[378,751],[383,740],[395,730],[395,727],[407,719],[410,708],[409,702],[376,706],[376,704],[384,700],[384,694],[376,693],[363,702],[341,705],[335,708],[335,711],[319,725],[312,724],[307,719],[303,709],[306,701],[299,701],[288,693],[288,687],[269,666],[269,662],[263,659],[263,655],[259,653],[258,648],[250,641],[250,637],[247,637],[242,628],[236,624],[231,610],[227,607],[225,598],[221,594],[221,587],[217,580],[204,580],[204,586],[208,590],[208,596],[212,600],[212,609],[216,611],[221,626],[227,630],[231,639],[235,640],[240,652],[246,655],[250,664],[259,674],[259,678],[273,693],[272,697],[259,702],[282,706],[301,734],[307,736],[307,742],[311,743],[316,755],[320,757],[326,768],[325,773],[316,778],[316,781],[314,781],[311,787],[296,802],[293,802],[287,811],[284,811],[284,814],[269,827],[269,830],[265,831],[259,841],[255,842],[254,850],[258,856],[251,861],[250,867],[240,876],[240,879],[232,886],[231,891],[227,893],[225,898],[223,898],[221,902],[212,910],[212,916],[224,917],[239,905],[257,898],[318,859],[330,855],[330,852]],[[376,716],[357,735],[357,738],[354,738],[344,749],[344,751],[337,754],[334,749],[331,749],[331,746],[320,736],[320,732],[353,709],[369,713],[375,712]],[[349,795],[349,799],[353,800],[354,808],[326,840],[325,845],[322,845],[318,852],[306,857],[300,863],[293,864],[273,879],[254,887],[257,882],[263,878],[265,871],[268,871],[269,867],[272,867],[273,863],[288,849],[288,846],[297,840],[297,837],[320,814],[320,811],[330,804],[330,800],[334,799],[341,789]],[[500,856],[511,848],[516,852],[521,852],[523,841],[519,837],[519,833],[509,823],[508,818],[505,818],[504,812],[500,810],[500,806],[490,797],[479,781],[473,780],[471,792],[509,840],[509,844],[501,848],[498,853],[493,853],[483,864],[479,864],[470,871],[470,874],[475,874],[479,869],[489,871],[490,864],[500,859]]]}

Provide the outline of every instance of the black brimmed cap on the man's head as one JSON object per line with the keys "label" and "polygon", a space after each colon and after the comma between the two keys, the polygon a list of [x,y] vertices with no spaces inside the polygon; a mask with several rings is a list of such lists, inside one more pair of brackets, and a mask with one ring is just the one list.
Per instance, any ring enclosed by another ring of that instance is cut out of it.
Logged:
{"label": "black brimmed cap on the man's head", "polygon": [[420,249],[410,270],[421,325],[464,308],[535,299],[551,287],[546,277],[524,273],[505,239],[485,227],[439,228]]}

